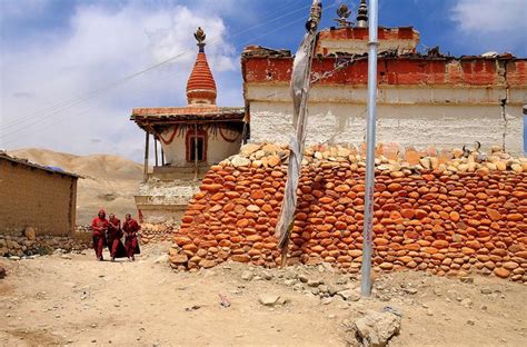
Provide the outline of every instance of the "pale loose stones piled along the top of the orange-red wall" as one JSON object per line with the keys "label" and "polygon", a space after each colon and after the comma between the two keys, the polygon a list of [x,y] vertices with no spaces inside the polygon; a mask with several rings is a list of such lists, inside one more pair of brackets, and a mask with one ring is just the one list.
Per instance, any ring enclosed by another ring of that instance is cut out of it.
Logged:
{"label": "pale loose stones piled along the top of the orange-red wall", "polygon": [[[287,165],[289,149],[286,146],[274,143],[247,143],[241,147],[238,155],[220,162],[221,166],[238,167],[276,167]],[[351,169],[366,167],[365,147],[359,149],[344,146],[311,146],[305,149],[302,166],[320,166],[322,163],[349,162]],[[384,174],[402,172],[406,176],[421,171],[436,171],[449,176],[457,172],[479,172],[488,175],[489,171],[515,171],[527,172],[527,158],[513,156],[503,151],[499,146],[493,146],[490,155],[477,150],[463,150],[455,148],[450,150],[418,151],[414,148],[400,148],[398,145],[379,145],[376,149],[376,169]],[[401,174],[394,174],[399,176]]]}

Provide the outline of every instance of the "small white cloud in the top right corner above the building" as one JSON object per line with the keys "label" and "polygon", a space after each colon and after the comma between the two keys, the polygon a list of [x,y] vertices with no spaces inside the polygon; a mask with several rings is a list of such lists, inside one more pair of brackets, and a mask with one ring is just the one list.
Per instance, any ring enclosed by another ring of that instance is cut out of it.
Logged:
{"label": "small white cloud in the top right corner above the building", "polygon": [[[450,18],[467,39],[481,50],[525,54],[527,46],[526,0],[458,0]],[[460,38],[461,39],[461,38]]]}

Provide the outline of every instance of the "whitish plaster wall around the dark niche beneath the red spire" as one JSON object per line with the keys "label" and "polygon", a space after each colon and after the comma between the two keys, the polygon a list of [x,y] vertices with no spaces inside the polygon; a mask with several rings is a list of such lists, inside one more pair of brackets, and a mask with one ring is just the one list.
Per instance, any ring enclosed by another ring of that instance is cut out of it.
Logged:
{"label": "whitish plaster wall around the dark niche beneath the red spire", "polygon": [[[231,139],[235,138],[237,133],[231,130],[222,130],[223,135]],[[163,132],[163,138],[168,139],[172,133],[172,128]],[[161,143],[165,151],[166,162],[175,167],[193,167],[193,162],[187,161],[186,155],[186,132],[181,137],[175,137],[173,141],[170,145]],[[237,153],[241,146],[241,133],[238,136],[236,142],[228,142],[223,140],[220,136],[219,130],[217,136],[208,133],[207,140],[207,165],[212,165],[223,160],[227,157],[230,157]]]}

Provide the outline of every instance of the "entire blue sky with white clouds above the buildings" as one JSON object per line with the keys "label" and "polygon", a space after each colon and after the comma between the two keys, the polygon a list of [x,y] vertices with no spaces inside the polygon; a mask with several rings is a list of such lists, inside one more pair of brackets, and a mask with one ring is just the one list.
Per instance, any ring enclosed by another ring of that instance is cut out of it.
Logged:
{"label": "entire blue sky with white clouds above the buildings", "polygon": [[[322,1],[321,27],[340,1]],[[345,1],[356,13],[359,0]],[[527,57],[527,0],[379,0],[379,24],[414,26],[420,50]],[[295,50],[308,0],[0,0],[0,148],[46,147],[140,160],[133,107],[183,106],[196,46],[206,48],[221,106],[241,106],[247,44]],[[178,59],[113,88],[93,90]],[[525,129],[525,128],[524,128]]]}

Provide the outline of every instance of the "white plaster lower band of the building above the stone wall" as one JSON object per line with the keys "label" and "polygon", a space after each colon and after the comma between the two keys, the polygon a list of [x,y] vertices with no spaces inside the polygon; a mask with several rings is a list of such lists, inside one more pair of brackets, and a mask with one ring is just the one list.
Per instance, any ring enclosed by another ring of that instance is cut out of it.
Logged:
{"label": "white plaster lower band of the building above the stone wall", "polygon": [[[248,95],[252,97],[255,93],[266,93],[265,90],[250,89]],[[277,91],[276,87],[272,89]],[[332,95],[330,90],[314,90],[310,95],[307,142],[358,146],[365,140],[366,133],[366,90],[337,90],[337,88],[332,90]],[[287,92],[286,90],[278,91]],[[339,93],[342,95],[339,96]],[[342,99],[346,99],[344,93],[361,97],[349,97],[349,100],[354,102],[344,102]],[[504,143],[505,136],[506,149],[509,152],[520,155],[524,151],[521,105],[506,107],[506,122],[500,103],[490,102],[490,100],[505,97],[505,90],[384,89],[379,95],[378,142],[398,142],[419,149],[430,145],[438,148],[453,148],[480,141],[484,148],[488,148]],[[489,95],[491,98],[488,98]],[[326,98],[330,101],[320,101]],[[291,110],[290,102],[252,99],[250,101],[251,141],[288,143],[294,133]]]}

